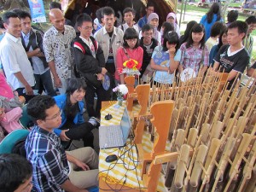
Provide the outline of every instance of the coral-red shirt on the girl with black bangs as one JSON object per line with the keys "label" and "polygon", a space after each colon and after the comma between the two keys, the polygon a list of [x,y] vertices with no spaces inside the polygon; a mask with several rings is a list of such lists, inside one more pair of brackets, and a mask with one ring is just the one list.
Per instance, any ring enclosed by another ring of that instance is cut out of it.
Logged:
{"label": "coral-red shirt on the girl with black bangs", "polygon": [[125,49],[127,54],[130,56],[128,58],[125,55],[125,51],[123,47],[119,47],[117,49],[117,54],[116,54],[116,70],[115,70],[115,79],[119,80],[119,74],[118,74],[118,68],[124,68],[123,63],[129,59],[134,59],[138,61],[139,63],[143,63],[143,48],[137,47],[137,49]]}

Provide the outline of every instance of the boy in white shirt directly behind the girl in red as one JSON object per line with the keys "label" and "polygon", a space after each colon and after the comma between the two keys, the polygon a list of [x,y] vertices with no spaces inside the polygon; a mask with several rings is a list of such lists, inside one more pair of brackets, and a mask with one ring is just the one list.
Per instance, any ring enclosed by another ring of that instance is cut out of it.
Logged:
{"label": "boy in white shirt directly behind the girl in red", "polygon": [[123,32],[126,31],[129,27],[134,28],[137,33],[139,33],[137,25],[134,25],[134,17],[135,17],[135,10],[132,8],[125,8],[123,11],[125,24],[120,25],[119,29],[123,30]]}

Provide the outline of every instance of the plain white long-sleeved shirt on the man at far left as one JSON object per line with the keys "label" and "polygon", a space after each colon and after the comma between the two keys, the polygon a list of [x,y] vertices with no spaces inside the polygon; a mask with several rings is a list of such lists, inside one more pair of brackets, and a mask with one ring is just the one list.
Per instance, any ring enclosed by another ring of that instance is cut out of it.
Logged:
{"label": "plain white long-sleeved shirt on the man at far left", "polygon": [[15,73],[22,73],[24,79],[30,86],[35,85],[35,79],[30,61],[27,59],[26,51],[21,44],[21,38],[15,38],[9,32],[0,44],[0,58],[6,79],[14,89],[24,88],[19,79],[15,77]]}

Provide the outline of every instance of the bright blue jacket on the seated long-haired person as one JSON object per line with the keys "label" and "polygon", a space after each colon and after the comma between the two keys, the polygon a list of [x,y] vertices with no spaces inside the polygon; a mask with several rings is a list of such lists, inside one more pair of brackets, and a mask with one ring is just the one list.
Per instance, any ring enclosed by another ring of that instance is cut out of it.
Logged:
{"label": "bright blue jacket on the seated long-haired person", "polygon": [[[60,136],[61,135],[60,128],[67,122],[67,116],[64,112],[64,109],[66,106],[67,95],[54,96],[54,99],[55,99],[56,105],[60,108],[60,110],[62,110],[61,125],[54,129],[55,134],[57,136]],[[74,124],[84,123],[83,108],[84,108],[84,102],[79,102],[79,113],[77,113],[75,118],[73,119]]]}

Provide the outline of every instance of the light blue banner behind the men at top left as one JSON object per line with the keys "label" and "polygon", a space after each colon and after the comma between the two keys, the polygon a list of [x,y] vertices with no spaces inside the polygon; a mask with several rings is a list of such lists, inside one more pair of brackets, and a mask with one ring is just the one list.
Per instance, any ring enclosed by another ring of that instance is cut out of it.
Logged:
{"label": "light blue banner behind the men at top left", "polygon": [[28,0],[33,23],[46,22],[43,0]]}

